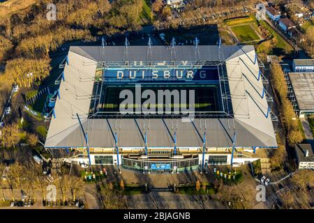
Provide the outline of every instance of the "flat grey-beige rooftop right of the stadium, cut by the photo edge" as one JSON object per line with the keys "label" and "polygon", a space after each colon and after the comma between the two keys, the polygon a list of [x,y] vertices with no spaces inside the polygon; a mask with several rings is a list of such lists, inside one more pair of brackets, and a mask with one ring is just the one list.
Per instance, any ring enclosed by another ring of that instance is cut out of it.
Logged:
{"label": "flat grey-beige rooftop right of the stadium, cut by the photo edge", "polygon": [[300,110],[314,110],[314,73],[311,72],[290,72],[294,95]]}

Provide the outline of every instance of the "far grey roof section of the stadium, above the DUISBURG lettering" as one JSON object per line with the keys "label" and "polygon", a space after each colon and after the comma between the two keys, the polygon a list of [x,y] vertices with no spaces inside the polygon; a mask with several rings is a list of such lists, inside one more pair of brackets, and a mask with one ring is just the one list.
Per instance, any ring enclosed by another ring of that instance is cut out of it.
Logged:
{"label": "far grey roof section of the stadium, above the DUISBURG lettering", "polygon": [[[200,61],[225,61],[226,59],[239,56],[246,52],[254,50],[252,45],[222,45],[220,48],[216,45],[200,45]],[[126,60],[124,46],[107,47],[70,47],[70,52],[79,54],[94,61],[149,61],[147,56],[148,46],[128,46],[128,59]],[[171,56],[170,46],[152,46],[152,61],[195,61],[195,47],[191,45],[174,46],[175,56]]]}

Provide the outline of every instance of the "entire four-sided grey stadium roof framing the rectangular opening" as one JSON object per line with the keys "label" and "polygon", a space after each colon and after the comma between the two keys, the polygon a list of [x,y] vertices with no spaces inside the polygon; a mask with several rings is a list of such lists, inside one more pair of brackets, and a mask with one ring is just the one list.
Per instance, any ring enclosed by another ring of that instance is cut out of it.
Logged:
{"label": "entire four-sided grey stadium roof framing the rectangular opening", "polygon": [[[207,146],[230,147],[232,136],[237,132],[239,147],[276,147],[276,137],[267,116],[267,99],[262,97],[262,78],[258,78],[259,67],[255,60],[255,50],[251,45],[239,46],[199,46],[203,61],[219,61],[222,56],[227,70],[228,84],[234,118],[206,118],[193,123],[182,123],[181,119],[113,118],[87,119],[94,87],[94,77],[98,61],[119,61],[124,56],[125,47],[70,47],[68,61],[64,69],[65,82],[61,82],[61,98],[54,107],[56,118],[52,118],[45,141],[46,148],[84,147],[84,135],[80,130],[76,114],[80,115],[84,130],[89,135],[89,146],[114,147],[114,132],[118,135],[118,145],[123,147],[143,147],[144,132],[152,147],[172,147],[174,132],[177,132],[177,146],[202,146],[202,135],[207,134]],[[219,50],[221,49],[221,51]],[[177,60],[195,61],[194,46],[175,46]],[[171,59],[171,50],[165,46],[153,46],[156,61]],[[128,46],[129,61],[146,61],[147,46]],[[177,124],[171,122],[179,122]],[[149,124],[148,124],[149,123]],[[149,125],[149,127],[148,127]],[[149,128],[149,130],[148,130]]]}

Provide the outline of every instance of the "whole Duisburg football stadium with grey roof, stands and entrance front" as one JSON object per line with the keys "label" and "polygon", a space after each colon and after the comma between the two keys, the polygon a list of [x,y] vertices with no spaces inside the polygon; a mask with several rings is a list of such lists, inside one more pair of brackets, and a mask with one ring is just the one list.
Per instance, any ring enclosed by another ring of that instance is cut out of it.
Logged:
{"label": "whole Duisburg football stadium with grey roof, stands and entrance front", "polygon": [[149,172],[246,164],[277,148],[254,47],[195,43],[70,47],[45,148]]}

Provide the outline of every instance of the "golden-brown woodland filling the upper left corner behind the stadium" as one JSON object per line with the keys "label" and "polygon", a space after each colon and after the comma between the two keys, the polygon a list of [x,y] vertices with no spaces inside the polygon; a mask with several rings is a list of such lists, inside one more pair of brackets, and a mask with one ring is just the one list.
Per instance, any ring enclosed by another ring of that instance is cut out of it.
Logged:
{"label": "golden-brown woodland filling the upper left corner behind the stadium", "polygon": [[[13,13],[8,8],[1,16],[0,64],[6,65],[4,75],[15,75],[21,86],[31,86],[36,79],[47,77],[49,52],[66,41],[91,41],[96,40],[96,34],[140,29],[142,0],[56,0],[57,21],[46,18],[49,3],[50,0],[38,0]],[[29,72],[36,77],[28,79]]]}

